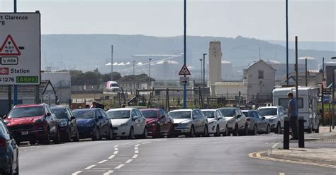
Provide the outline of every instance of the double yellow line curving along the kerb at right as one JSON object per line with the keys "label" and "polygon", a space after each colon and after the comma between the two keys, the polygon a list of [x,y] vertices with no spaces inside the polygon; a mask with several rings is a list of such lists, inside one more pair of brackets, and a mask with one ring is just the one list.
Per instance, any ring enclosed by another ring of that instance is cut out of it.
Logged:
{"label": "double yellow line curving along the kerb at right", "polygon": [[[285,163],[294,163],[294,164],[306,164],[306,165],[313,165],[313,166],[318,166],[318,167],[326,167],[326,168],[332,168],[336,169],[335,165],[330,165],[330,164],[319,164],[319,163],[313,163],[313,162],[301,162],[301,161],[296,161],[296,160],[288,160],[288,159],[276,159],[272,157],[263,157],[262,154],[267,154],[266,151],[261,151],[261,152],[252,152],[249,154],[250,158],[254,159],[264,159],[264,160],[269,160],[269,161],[275,161],[275,162],[285,162]],[[283,173],[279,173],[279,175],[284,175]]]}

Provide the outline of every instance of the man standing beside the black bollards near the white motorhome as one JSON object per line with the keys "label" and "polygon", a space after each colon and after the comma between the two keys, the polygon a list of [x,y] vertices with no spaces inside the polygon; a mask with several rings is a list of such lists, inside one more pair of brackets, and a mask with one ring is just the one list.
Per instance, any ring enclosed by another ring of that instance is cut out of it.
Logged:
{"label": "man standing beside the black bollards near the white motorhome", "polygon": [[291,131],[292,136],[291,140],[298,140],[298,103],[296,99],[293,97],[292,92],[288,92],[287,96],[289,97],[289,107],[288,109],[288,116],[289,116],[289,123],[291,123]]}

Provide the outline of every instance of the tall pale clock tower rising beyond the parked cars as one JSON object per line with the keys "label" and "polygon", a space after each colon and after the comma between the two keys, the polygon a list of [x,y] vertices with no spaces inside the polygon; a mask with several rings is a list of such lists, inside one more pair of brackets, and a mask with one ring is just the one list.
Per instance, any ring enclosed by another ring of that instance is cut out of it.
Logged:
{"label": "tall pale clock tower rising beyond the parked cars", "polygon": [[211,95],[215,95],[215,82],[222,81],[222,49],[218,41],[210,42],[209,44],[209,82]]}

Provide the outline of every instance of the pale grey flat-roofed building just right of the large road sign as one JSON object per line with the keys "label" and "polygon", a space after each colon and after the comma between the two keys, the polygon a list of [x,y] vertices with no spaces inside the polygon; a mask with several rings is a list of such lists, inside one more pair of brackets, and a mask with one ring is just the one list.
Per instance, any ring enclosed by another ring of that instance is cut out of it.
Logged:
{"label": "pale grey flat-roofed building just right of the large road sign", "polygon": [[69,72],[43,72],[41,79],[50,80],[58,95],[60,103],[68,103],[71,99],[71,76]]}

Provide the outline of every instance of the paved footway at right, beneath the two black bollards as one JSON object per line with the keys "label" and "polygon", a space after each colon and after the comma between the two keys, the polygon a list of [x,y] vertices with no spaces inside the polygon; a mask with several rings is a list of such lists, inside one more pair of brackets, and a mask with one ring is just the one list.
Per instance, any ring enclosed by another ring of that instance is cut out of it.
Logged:
{"label": "paved footway at right, beneath the two black bollards", "polygon": [[291,140],[289,150],[272,147],[266,156],[336,168],[336,130],[330,132],[328,127],[321,127],[320,133],[305,134],[305,139],[304,148],[298,147],[297,140]]}

